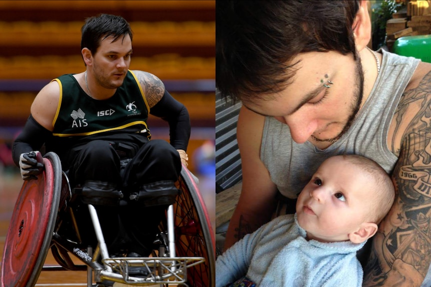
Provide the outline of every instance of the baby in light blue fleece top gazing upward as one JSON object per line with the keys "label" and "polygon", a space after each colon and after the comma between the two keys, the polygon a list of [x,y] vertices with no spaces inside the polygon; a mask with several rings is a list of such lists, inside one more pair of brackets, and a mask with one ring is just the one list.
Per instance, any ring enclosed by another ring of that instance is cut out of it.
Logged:
{"label": "baby in light blue fleece top gazing upward", "polygon": [[393,199],[392,181],[377,163],[330,157],[299,194],[294,215],[275,218],[217,258],[215,286],[361,287],[356,251]]}

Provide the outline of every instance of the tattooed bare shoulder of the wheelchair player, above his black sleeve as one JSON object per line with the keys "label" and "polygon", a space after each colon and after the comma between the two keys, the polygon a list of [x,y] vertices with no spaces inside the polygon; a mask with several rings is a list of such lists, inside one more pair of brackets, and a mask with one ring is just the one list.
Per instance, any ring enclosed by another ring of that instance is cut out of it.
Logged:
{"label": "tattooed bare shoulder of the wheelchair player, above his black sleeve", "polygon": [[158,77],[147,72],[135,71],[135,75],[144,90],[148,106],[153,107],[164,94],[163,82]]}

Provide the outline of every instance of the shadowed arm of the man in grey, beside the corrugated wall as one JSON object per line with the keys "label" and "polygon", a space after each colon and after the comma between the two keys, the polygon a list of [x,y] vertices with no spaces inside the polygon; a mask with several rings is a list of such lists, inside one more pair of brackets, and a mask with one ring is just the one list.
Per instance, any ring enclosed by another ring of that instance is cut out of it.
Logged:
{"label": "shadowed arm of the man in grey, beside the corrugated wall", "polygon": [[236,136],[241,155],[242,190],[229,222],[224,250],[268,222],[275,209],[276,187],[260,160],[263,121],[263,116],[241,107]]}

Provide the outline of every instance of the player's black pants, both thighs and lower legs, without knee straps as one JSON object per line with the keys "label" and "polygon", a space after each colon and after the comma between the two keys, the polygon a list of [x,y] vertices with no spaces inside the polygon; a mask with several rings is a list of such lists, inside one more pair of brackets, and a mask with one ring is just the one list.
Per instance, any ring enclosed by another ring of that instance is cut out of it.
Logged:
{"label": "player's black pants, both thighs and lower legs, without knee straps", "polygon": [[[151,140],[124,164],[124,153],[108,141],[94,140],[73,150],[67,171],[71,186],[98,181],[121,190],[124,196],[146,184],[177,181],[181,171],[178,152],[164,140]],[[173,187],[174,188],[174,187]],[[132,251],[147,256],[157,226],[167,206],[144,207],[141,202],[127,206],[95,206],[110,253]]]}

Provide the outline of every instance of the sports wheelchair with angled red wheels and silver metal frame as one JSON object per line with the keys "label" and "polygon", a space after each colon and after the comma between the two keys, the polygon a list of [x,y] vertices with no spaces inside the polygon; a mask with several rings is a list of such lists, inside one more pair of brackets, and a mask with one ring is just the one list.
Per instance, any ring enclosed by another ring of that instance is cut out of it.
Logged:
{"label": "sports wheelchair with angled red wheels and silver metal frame", "polygon": [[[33,287],[41,271],[86,271],[87,287],[104,280],[130,286],[211,287],[215,282],[215,240],[206,207],[191,173],[183,165],[179,194],[154,235],[149,257],[109,257],[93,205],[87,204],[96,244],[81,241],[76,208],[58,156],[43,157],[37,180],[24,181],[16,200],[1,262],[0,287]],[[47,253],[59,266],[44,266]],[[73,256],[75,261],[72,260]],[[83,264],[76,265],[76,260]],[[130,274],[144,269],[144,276]]]}

